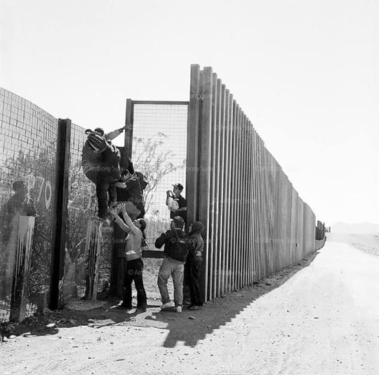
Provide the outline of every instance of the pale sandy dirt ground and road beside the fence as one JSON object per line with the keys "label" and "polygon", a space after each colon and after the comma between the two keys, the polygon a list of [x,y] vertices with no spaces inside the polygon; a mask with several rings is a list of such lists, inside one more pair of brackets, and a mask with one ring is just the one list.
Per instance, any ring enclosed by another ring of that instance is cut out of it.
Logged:
{"label": "pale sandy dirt ground and road beside the fence", "polygon": [[376,241],[331,234],[307,267],[197,312],[51,315],[0,344],[0,374],[378,374]]}

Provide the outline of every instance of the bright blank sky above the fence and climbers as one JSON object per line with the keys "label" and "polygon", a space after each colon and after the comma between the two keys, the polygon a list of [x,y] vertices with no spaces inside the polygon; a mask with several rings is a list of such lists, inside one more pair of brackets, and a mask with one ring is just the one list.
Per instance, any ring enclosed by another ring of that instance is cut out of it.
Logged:
{"label": "bright blank sky above the fence and climbers", "polygon": [[211,66],[326,225],[379,223],[379,0],[0,0],[0,86],[106,131]]}

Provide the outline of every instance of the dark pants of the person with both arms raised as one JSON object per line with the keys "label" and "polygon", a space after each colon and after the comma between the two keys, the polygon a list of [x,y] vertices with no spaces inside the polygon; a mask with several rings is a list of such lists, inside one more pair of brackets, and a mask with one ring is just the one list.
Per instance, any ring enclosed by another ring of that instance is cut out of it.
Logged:
{"label": "dark pants of the person with both arms raised", "polygon": [[137,308],[146,308],[147,297],[142,280],[143,262],[142,259],[134,259],[126,262],[126,274],[124,277],[124,296],[122,305],[126,308],[132,308],[131,284],[134,280],[134,286],[137,290]]}

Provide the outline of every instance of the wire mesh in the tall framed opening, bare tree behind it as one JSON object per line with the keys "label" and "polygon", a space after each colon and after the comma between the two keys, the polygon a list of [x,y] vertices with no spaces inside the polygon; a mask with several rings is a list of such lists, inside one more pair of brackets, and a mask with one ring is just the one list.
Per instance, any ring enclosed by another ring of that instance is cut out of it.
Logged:
{"label": "wire mesh in the tall framed opening, bare tree behind it", "polygon": [[[172,184],[185,187],[187,154],[187,103],[138,104],[133,107],[133,164],[144,173],[147,243],[154,241],[170,224],[166,191]],[[185,197],[185,190],[182,192]]]}

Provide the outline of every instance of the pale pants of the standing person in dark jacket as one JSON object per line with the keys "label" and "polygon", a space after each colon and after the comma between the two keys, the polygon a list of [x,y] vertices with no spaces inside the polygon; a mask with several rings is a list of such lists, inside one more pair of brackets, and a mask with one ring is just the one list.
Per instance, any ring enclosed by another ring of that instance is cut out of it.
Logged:
{"label": "pale pants of the standing person in dark jacket", "polygon": [[158,273],[158,287],[162,303],[170,302],[167,290],[167,281],[170,276],[173,277],[175,306],[181,306],[183,303],[184,262],[165,256]]}

